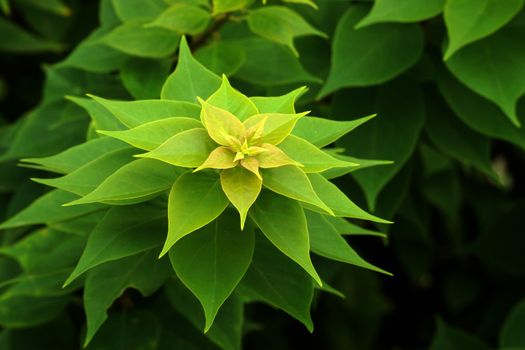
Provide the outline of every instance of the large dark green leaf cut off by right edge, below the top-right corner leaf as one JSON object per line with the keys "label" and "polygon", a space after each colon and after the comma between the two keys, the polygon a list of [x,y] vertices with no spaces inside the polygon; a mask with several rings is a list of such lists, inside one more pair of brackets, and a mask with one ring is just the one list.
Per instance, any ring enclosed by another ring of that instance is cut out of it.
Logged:
{"label": "large dark green leaf cut off by right edge, below the top-right corner leaf", "polygon": [[496,103],[516,126],[516,103],[525,93],[525,47],[519,45],[524,33],[523,28],[501,30],[446,62],[463,84]]}

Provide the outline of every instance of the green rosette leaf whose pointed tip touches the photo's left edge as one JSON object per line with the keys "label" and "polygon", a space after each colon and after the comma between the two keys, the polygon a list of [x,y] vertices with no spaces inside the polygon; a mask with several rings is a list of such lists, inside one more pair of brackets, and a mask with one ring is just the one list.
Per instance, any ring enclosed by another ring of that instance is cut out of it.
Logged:
{"label": "green rosette leaf whose pointed tip touches the photo's left edge", "polygon": [[65,221],[89,214],[102,208],[99,204],[63,207],[62,204],[77,198],[76,195],[53,190],[37,198],[28,207],[0,224],[0,229]]}

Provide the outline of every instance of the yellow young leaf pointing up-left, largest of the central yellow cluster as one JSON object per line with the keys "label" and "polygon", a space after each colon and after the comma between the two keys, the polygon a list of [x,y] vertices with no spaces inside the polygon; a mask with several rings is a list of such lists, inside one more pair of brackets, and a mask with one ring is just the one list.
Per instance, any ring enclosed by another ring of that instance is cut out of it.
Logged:
{"label": "yellow young leaf pointing up-left, largest of the central yellow cluster", "polygon": [[245,133],[243,123],[231,112],[218,108],[202,99],[201,121],[210,137],[223,146],[235,146]]}

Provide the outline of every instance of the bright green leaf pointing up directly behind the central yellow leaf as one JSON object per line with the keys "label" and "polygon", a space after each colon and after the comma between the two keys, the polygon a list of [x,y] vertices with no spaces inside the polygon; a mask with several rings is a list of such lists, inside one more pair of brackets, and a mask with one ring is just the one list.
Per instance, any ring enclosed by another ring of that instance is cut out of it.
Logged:
{"label": "bright green leaf pointing up directly behind the central yellow leaf", "polygon": [[225,75],[222,76],[219,89],[206,102],[230,112],[241,121],[259,113],[255,104],[246,95],[234,89]]}

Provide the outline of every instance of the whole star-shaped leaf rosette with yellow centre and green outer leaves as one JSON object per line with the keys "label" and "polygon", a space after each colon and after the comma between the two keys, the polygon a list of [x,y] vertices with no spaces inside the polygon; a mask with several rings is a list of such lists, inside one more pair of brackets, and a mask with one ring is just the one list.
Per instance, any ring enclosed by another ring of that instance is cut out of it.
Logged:
{"label": "whole star-shaped leaf rosette with yellow centre and green outer leaves", "polygon": [[[161,99],[71,97],[92,116],[88,141],[25,159],[27,166],[64,175],[34,179],[56,189],[2,227],[30,224],[51,203],[49,210],[62,219],[105,211],[80,258],[72,257],[78,263],[64,283],[72,288],[86,274],[86,344],[124,287],[148,294],[169,278],[199,300],[205,332],[235,297],[275,305],[311,330],[314,284],[331,290],[311,251],[384,272],[341,233],[355,231],[345,217],[387,221],[360,209],[329,181],[362,167],[360,160],[326,147],[373,116],[332,121],[298,112],[294,103],[304,87],[247,97],[194,60],[184,38],[178,60]],[[172,270],[163,263],[168,253]],[[115,275],[125,281],[108,287]]]}

